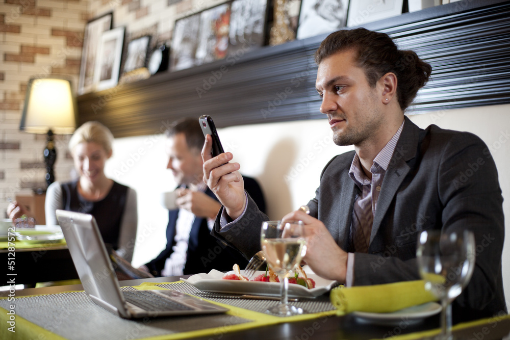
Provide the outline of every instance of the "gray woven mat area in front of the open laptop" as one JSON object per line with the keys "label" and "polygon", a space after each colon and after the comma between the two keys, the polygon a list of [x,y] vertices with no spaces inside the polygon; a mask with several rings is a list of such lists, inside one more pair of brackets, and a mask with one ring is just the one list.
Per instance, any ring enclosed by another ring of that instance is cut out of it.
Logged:
{"label": "gray woven mat area in front of the open laptop", "polygon": [[[12,303],[0,299],[2,308],[9,309]],[[126,320],[93,303],[85,292],[20,297],[14,304],[17,317],[72,340],[137,339],[251,321],[229,314]]]}

